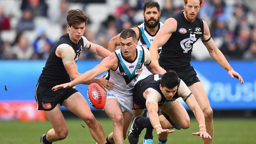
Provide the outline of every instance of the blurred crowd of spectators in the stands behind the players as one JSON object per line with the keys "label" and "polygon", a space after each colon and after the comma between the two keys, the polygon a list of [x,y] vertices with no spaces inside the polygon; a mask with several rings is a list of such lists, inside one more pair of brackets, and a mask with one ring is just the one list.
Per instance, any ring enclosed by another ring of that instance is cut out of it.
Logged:
{"label": "blurred crowd of spectators in the stands behind the players", "polygon": [[[78,1],[59,0],[58,9],[53,12],[49,11],[50,5],[46,1],[20,0],[20,16],[7,15],[4,11],[7,7],[0,3],[0,59],[48,58],[52,46],[58,41],[51,36],[60,37],[67,32],[66,16],[69,6]],[[204,0],[198,16],[208,23],[211,37],[227,59],[256,60],[255,12],[245,3],[246,0],[234,1],[236,2],[230,4],[227,0]],[[100,2],[104,4],[107,1]],[[137,0],[131,5],[129,0],[122,0],[119,6],[111,7],[113,10],[104,19],[99,19],[100,25],[97,30],[91,29],[94,23],[90,17],[93,15],[89,15],[85,37],[91,42],[108,48],[108,41],[112,37],[125,28],[132,28],[144,22],[143,17],[137,16],[142,16],[144,2],[145,0]],[[82,3],[86,13],[88,13],[86,10],[89,4]],[[183,0],[162,0],[160,22],[164,22],[182,9]],[[47,34],[49,25],[37,26],[36,18],[43,18],[49,24],[57,25],[61,28],[61,32],[53,31],[50,35]],[[13,22],[15,25],[11,24],[11,19],[16,20]],[[30,31],[33,35],[30,35]],[[14,33],[14,38],[9,38],[6,33]],[[84,50],[80,59],[101,59],[101,57]]]}

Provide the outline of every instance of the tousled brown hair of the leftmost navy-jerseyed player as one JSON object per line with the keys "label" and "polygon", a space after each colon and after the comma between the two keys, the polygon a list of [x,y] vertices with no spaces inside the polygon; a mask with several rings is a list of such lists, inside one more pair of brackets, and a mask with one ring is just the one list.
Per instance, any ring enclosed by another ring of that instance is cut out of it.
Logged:
{"label": "tousled brown hair of the leftmost navy-jerseyed player", "polygon": [[71,9],[67,14],[67,22],[69,26],[75,26],[81,22],[87,23],[88,16],[80,9]]}

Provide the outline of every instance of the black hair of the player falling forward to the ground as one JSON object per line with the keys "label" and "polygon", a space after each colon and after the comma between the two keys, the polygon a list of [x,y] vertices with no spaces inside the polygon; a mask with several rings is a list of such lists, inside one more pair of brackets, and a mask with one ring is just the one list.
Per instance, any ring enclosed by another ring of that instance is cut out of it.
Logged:
{"label": "black hair of the player falling forward to the ground", "polygon": [[176,85],[179,84],[179,82],[180,79],[178,78],[178,74],[173,70],[169,70],[168,72],[163,74],[161,78],[162,87],[167,87],[168,89],[174,88]]}

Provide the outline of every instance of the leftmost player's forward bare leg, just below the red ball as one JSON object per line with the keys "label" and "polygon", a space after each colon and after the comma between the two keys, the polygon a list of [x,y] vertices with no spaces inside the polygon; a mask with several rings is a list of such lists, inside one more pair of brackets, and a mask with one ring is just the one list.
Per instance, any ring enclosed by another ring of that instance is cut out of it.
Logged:
{"label": "leftmost player's forward bare leg, just below the red ball", "polygon": [[91,109],[80,92],[72,94],[63,105],[72,113],[80,117],[89,127],[92,137],[98,144],[105,144],[106,137],[100,123],[96,120]]}

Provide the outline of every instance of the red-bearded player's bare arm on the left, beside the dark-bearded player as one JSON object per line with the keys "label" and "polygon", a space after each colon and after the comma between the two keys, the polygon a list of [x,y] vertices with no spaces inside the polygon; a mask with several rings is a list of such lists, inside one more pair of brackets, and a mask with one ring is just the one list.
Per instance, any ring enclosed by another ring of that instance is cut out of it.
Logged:
{"label": "red-bearded player's bare arm on the left, beside the dark-bearded player", "polygon": [[172,33],[176,31],[176,28],[177,21],[174,18],[168,18],[163,24],[163,28],[158,31],[149,48],[152,63],[158,63],[158,48],[168,41]]}

